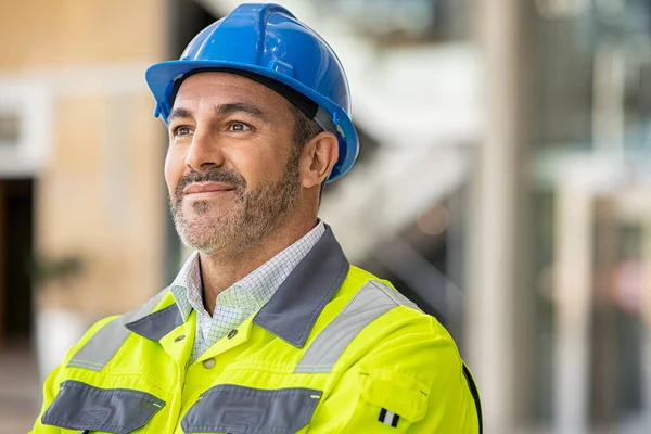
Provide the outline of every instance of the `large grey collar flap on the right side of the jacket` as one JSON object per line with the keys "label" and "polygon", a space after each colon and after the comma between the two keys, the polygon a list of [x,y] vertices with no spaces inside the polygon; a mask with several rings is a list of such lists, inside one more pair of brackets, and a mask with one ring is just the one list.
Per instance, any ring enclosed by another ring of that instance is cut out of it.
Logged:
{"label": "large grey collar flap on the right side of the jacket", "polygon": [[295,347],[303,347],[317,318],[346,279],[349,268],[332,229],[326,225],[326,233],[253,322]]}

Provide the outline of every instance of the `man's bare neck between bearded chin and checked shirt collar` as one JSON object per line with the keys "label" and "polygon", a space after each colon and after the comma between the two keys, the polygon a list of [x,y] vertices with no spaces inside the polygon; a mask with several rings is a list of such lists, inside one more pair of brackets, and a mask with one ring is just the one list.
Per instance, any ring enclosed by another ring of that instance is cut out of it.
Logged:
{"label": "man's bare neck between bearded chin and checked shirt collar", "polygon": [[314,229],[315,219],[283,225],[255,245],[237,253],[200,253],[204,306],[213,315],[217,296]]}

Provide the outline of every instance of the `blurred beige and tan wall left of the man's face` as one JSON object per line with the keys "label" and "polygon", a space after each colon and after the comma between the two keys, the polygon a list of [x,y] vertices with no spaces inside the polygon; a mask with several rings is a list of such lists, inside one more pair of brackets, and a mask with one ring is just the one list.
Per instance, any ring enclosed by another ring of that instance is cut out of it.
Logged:
{"label": "blurred beige and tan wall left of the man's face", "polygon": [[48,158],[13,175],[35,179],[40,309],[92,321],[163,285],[165,138],[143,73],[166,54],[164,7],[0,2],[0,82],[37,88],[47,104],[48,120],[34,117],[26,128],[46,129]]}

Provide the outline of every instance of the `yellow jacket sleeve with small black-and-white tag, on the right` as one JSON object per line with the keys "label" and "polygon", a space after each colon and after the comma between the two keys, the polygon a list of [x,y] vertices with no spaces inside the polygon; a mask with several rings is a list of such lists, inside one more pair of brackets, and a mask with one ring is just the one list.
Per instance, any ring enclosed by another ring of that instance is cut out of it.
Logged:
{"label": "yellow jacket sleeve with small black-and-white tag, on the right", "polygon": [[342,375],[317,408],[310,433],[480,433],[452,339],[434,318],[416,322],[398,328]]}

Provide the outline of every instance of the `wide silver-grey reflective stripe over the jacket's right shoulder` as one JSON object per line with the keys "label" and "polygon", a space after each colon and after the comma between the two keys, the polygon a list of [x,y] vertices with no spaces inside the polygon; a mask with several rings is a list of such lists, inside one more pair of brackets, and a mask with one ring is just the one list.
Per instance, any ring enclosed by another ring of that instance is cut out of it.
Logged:
{"label": "wide silver-grey reflective stripe over the jacket's right shoulder", "polygon": [[346,347],[365,327],[391,309],[407,305],[420,309],[407,297],[379,281],[369,281],[315,339],[294,373],[328,373]]}

